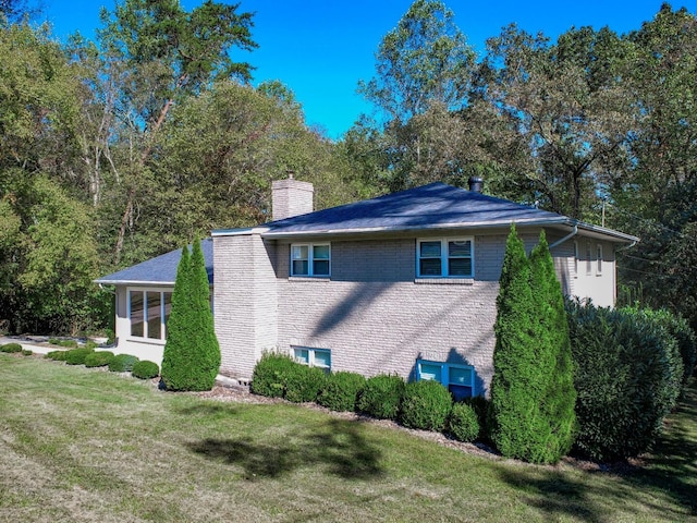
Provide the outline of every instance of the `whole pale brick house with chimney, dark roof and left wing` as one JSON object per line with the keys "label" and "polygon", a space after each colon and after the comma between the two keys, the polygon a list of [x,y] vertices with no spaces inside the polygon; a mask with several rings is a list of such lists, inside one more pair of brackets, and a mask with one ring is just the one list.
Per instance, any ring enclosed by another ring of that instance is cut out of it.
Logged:
{"label": "whole pale brick house with chimney, dark roof and left wing", "polygon": [[[247,380],[265,350],[279,350],[331,370],[487,393],[512,222],[528,252],[546,230],[567,295],[614,304],[615,252],[636,238],[470,182],[469,191],[432,183],[315,212],[311,184],[274,182],[273,221],[203,242],[221,373]],[[180,253],[97,280],[115,285],[120,351],[161,358]]]}

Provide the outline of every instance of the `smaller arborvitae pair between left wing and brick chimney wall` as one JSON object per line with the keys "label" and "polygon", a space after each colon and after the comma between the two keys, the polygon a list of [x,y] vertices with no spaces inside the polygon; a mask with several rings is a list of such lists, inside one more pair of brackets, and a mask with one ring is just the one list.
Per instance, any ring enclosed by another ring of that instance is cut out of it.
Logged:
{"label": "smaller arborvitae pair between left wing and brick chimney wall", "polygon": [[220,346],[210,309],[210,287],[200,241],[182,248],[162,356],[167,390],[210,390],[220,369]]}

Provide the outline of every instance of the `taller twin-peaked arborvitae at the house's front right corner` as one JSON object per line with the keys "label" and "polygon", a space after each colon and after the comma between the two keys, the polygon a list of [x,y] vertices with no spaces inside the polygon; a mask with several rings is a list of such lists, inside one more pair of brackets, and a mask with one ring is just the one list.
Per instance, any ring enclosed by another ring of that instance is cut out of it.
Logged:
{"label": "taller twin-peaked arborvitae at the house's front right corner", "polygon": [[497,309],[492,440],[508,458],[555,463],[573,445],[576,392],[564,300],[543,231],[528,259],[511,227]]}

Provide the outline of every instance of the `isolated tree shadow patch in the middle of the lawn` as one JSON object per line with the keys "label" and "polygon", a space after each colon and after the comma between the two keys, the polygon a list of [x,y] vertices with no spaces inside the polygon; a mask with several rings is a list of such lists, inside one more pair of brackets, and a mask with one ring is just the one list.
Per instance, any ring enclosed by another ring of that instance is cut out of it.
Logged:
{"label": "isolated tree shadow patch in the middle of the lawn", "polygon": [[345,479],[380,476],[381,452],[363,436],[360,424],[330,419],[309,434],[285,436],[273,442],[261,438],[208,438],[187,445],[211,460],[244,467],[247,479],[278,477],[301,466],[326,465]]}

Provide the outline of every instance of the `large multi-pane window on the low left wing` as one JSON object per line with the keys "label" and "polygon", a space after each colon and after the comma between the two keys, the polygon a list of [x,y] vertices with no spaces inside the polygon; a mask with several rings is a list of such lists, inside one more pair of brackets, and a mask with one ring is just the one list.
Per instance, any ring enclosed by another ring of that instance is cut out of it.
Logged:
{"label": "large multi-pane window on the low left wing", "polygon": [[131,336],[164,340],[166,325],[172,308],[172,293],[156,290],[129,291]]}

